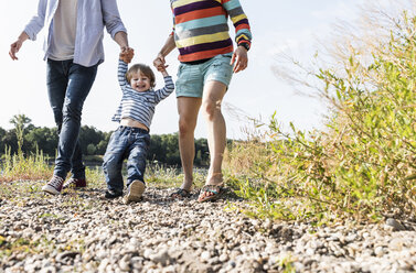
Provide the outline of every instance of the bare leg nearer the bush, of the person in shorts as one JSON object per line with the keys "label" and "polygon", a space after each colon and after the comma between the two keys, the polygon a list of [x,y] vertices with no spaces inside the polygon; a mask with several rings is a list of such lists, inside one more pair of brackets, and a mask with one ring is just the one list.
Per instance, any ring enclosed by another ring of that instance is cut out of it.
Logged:
{"label": "bare leg nearer the bush, of the person in shorts", "polygon": [[222,163],[226,143],[226,128],[221,103],[226,92],[223,83],[211,80],[205,84],[202,98],[202,112],[207,123],[210,149],[210,170],[206,185],[222,184]]}

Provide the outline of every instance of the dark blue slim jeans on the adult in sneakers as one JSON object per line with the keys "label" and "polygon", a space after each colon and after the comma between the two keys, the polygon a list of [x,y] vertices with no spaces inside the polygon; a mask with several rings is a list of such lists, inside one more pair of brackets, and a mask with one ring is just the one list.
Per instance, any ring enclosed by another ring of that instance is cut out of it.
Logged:
{"label": "dark blue slim jeans on the adult in sneakers", "polygon": [[97,66],[47,59],[47,94],[60,133],[54,175],[85,178],[78,134],[83,105],[97,75]]}

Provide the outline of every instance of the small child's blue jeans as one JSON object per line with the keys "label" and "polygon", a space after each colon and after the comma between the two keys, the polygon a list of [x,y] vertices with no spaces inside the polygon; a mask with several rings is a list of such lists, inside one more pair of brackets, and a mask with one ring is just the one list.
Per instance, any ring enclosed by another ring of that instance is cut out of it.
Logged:
{"label": "small child's blue jeans", "polygon": [[150,134],[143,129],[119,127],[111,134],[103,163],[109,190],[122,192],[121,168],[125,159],[127,159],[127,187],[134,181],[145,183],[146,156],[149,145]]}

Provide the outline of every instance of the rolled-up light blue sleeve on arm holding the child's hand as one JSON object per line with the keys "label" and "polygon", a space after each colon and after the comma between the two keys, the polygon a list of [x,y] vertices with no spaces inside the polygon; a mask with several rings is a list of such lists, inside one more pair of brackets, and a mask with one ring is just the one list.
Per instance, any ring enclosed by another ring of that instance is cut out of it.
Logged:
{"label": "rolled-up light blue sleeve on arm holding the child's hand", "polygon": [[114,36],[117,32],[126,32],[127,30],[121,21],[120,13],[118,12],[116,0],[102,0],[103,19],[106,25],[107,32]]}

